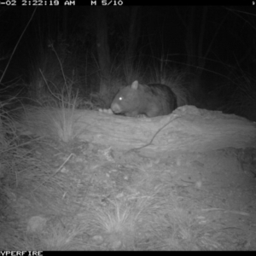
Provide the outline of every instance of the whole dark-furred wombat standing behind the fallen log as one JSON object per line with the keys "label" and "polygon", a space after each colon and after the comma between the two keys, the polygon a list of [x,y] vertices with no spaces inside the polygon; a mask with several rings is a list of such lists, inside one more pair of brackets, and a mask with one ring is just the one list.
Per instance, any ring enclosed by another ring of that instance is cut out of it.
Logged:
{"label": "whole dark-furred wombat standing behind the fallen log", "polygon": [[111,103],[113,113],[122,113],[130,117],[166,115],[172,113],[175,108],[177,98],[167,85],[145,85],[139,84],[138,81],[119,90]]}

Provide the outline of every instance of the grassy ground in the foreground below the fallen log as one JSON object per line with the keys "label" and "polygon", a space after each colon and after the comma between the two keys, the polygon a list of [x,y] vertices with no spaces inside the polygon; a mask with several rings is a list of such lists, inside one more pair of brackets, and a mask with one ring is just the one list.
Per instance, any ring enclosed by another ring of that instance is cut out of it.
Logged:
{"label": "grassy ground in the foreground below the fallen log", "polygon": [[0,158],[1,249],[256,249],[256,147],[160,158],[22,135]]}

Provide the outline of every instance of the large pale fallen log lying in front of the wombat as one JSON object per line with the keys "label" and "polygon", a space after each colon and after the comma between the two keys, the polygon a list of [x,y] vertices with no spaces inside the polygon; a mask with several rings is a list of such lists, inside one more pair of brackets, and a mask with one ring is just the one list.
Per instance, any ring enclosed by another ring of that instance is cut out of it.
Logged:
{"label": "large pale fallen log lying in front of the wombat", "polygon": [[32,134],[55,138],[60,138],[61,129],[67,128],[63,124],[72,124],[73,137],[80,141],[111,147],[116,152],[140,148],[140,154],[159,158],[169,157],[175,151],[203,153],[253,147],[256,143],[256,125],[247,119],[193,106],[152,119],[90,110],[29,108],[22,123]]}

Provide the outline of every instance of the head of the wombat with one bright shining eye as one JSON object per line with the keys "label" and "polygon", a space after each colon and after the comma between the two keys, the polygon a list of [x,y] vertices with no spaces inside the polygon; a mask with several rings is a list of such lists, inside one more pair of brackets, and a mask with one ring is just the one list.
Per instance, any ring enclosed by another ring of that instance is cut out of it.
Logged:
{"label": "head of the wombat with one bright shining eye", "polygon": [[131,85],[119,90],[111,103],[113,113],[125,114],[134,111],[140,103],[138,90],[138,81],[134,81]]}

